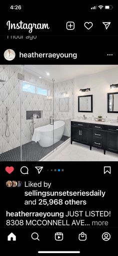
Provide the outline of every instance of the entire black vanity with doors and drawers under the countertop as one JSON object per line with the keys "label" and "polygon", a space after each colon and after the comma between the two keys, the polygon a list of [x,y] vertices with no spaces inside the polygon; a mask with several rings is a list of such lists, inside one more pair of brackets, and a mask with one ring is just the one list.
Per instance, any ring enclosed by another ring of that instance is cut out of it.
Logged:
{"label": "entire black vanity with doors and drawers under the countertop", "polygon": [[118,126],[71,121],[72,141],[118,153]]}

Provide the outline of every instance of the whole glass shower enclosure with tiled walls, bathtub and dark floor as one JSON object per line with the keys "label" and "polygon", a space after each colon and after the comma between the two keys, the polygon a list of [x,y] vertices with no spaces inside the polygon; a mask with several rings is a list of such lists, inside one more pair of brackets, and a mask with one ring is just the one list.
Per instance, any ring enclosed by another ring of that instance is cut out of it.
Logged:
{"label": "whole glass shower enclosure with tiled walls, bathtub and dark floor", "polygon": [[70,137],[72,82],[0,66],[0,161],[42,161]]}

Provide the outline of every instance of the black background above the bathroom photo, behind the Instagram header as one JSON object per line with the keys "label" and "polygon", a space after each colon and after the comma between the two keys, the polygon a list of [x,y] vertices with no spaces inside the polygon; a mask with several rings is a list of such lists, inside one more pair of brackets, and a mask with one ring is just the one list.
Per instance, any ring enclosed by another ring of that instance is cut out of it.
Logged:
{"label": "black background above the bathroom photo, behind the Instagram header", "polygon": [[[13,5],[13,3],[11,3]],[[2,4],[3,18],[0,23],[0,60],[2,64],[9,64],[3,57],[6,49],[13,49],[16,57],[11,64],[117,64],[117,4],[112,10],[91,10],[99,3],[56,3],[39,2],[21,4],[21,10],[11,10],[11,4]],[[16,3],[14,3],[16,5]],[[18,3],[17,3],[18,5]],[[4,7],[5,6],[5,7]],[[6,22],[11,23],[48,23],[50,30],[10,30]],[[66,30],[66,22],[73,21],[75,29]],[[90,30],[84,28],[85,22],[92,22]],[[111,22],[105,30],[102,22]],[[36,35],[35,40],[10,40],[7,35]],[[37,59],[19,58],[21,53],[77,53],[77,59]],[[107,56],[113,54],[113,56]]]}

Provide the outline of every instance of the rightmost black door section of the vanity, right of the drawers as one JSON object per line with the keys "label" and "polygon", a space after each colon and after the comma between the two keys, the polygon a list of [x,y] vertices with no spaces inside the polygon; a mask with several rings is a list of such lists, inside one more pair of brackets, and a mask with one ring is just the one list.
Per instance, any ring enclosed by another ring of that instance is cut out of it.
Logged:
{"label": "rightmost black door section of the vanity, right of the drawers", "polygon": [[118,126],[104,125],[104,150],[118,153]]}

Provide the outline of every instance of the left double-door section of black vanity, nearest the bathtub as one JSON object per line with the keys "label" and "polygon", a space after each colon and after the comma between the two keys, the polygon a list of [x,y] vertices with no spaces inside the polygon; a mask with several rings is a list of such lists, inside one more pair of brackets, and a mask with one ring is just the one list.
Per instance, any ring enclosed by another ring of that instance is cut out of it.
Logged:
{"label": "left double-door section of black vanity, nearest the bathtub", "polygon": [[89,124],[71,121],[71,144],[72,141],[89,145]]}

